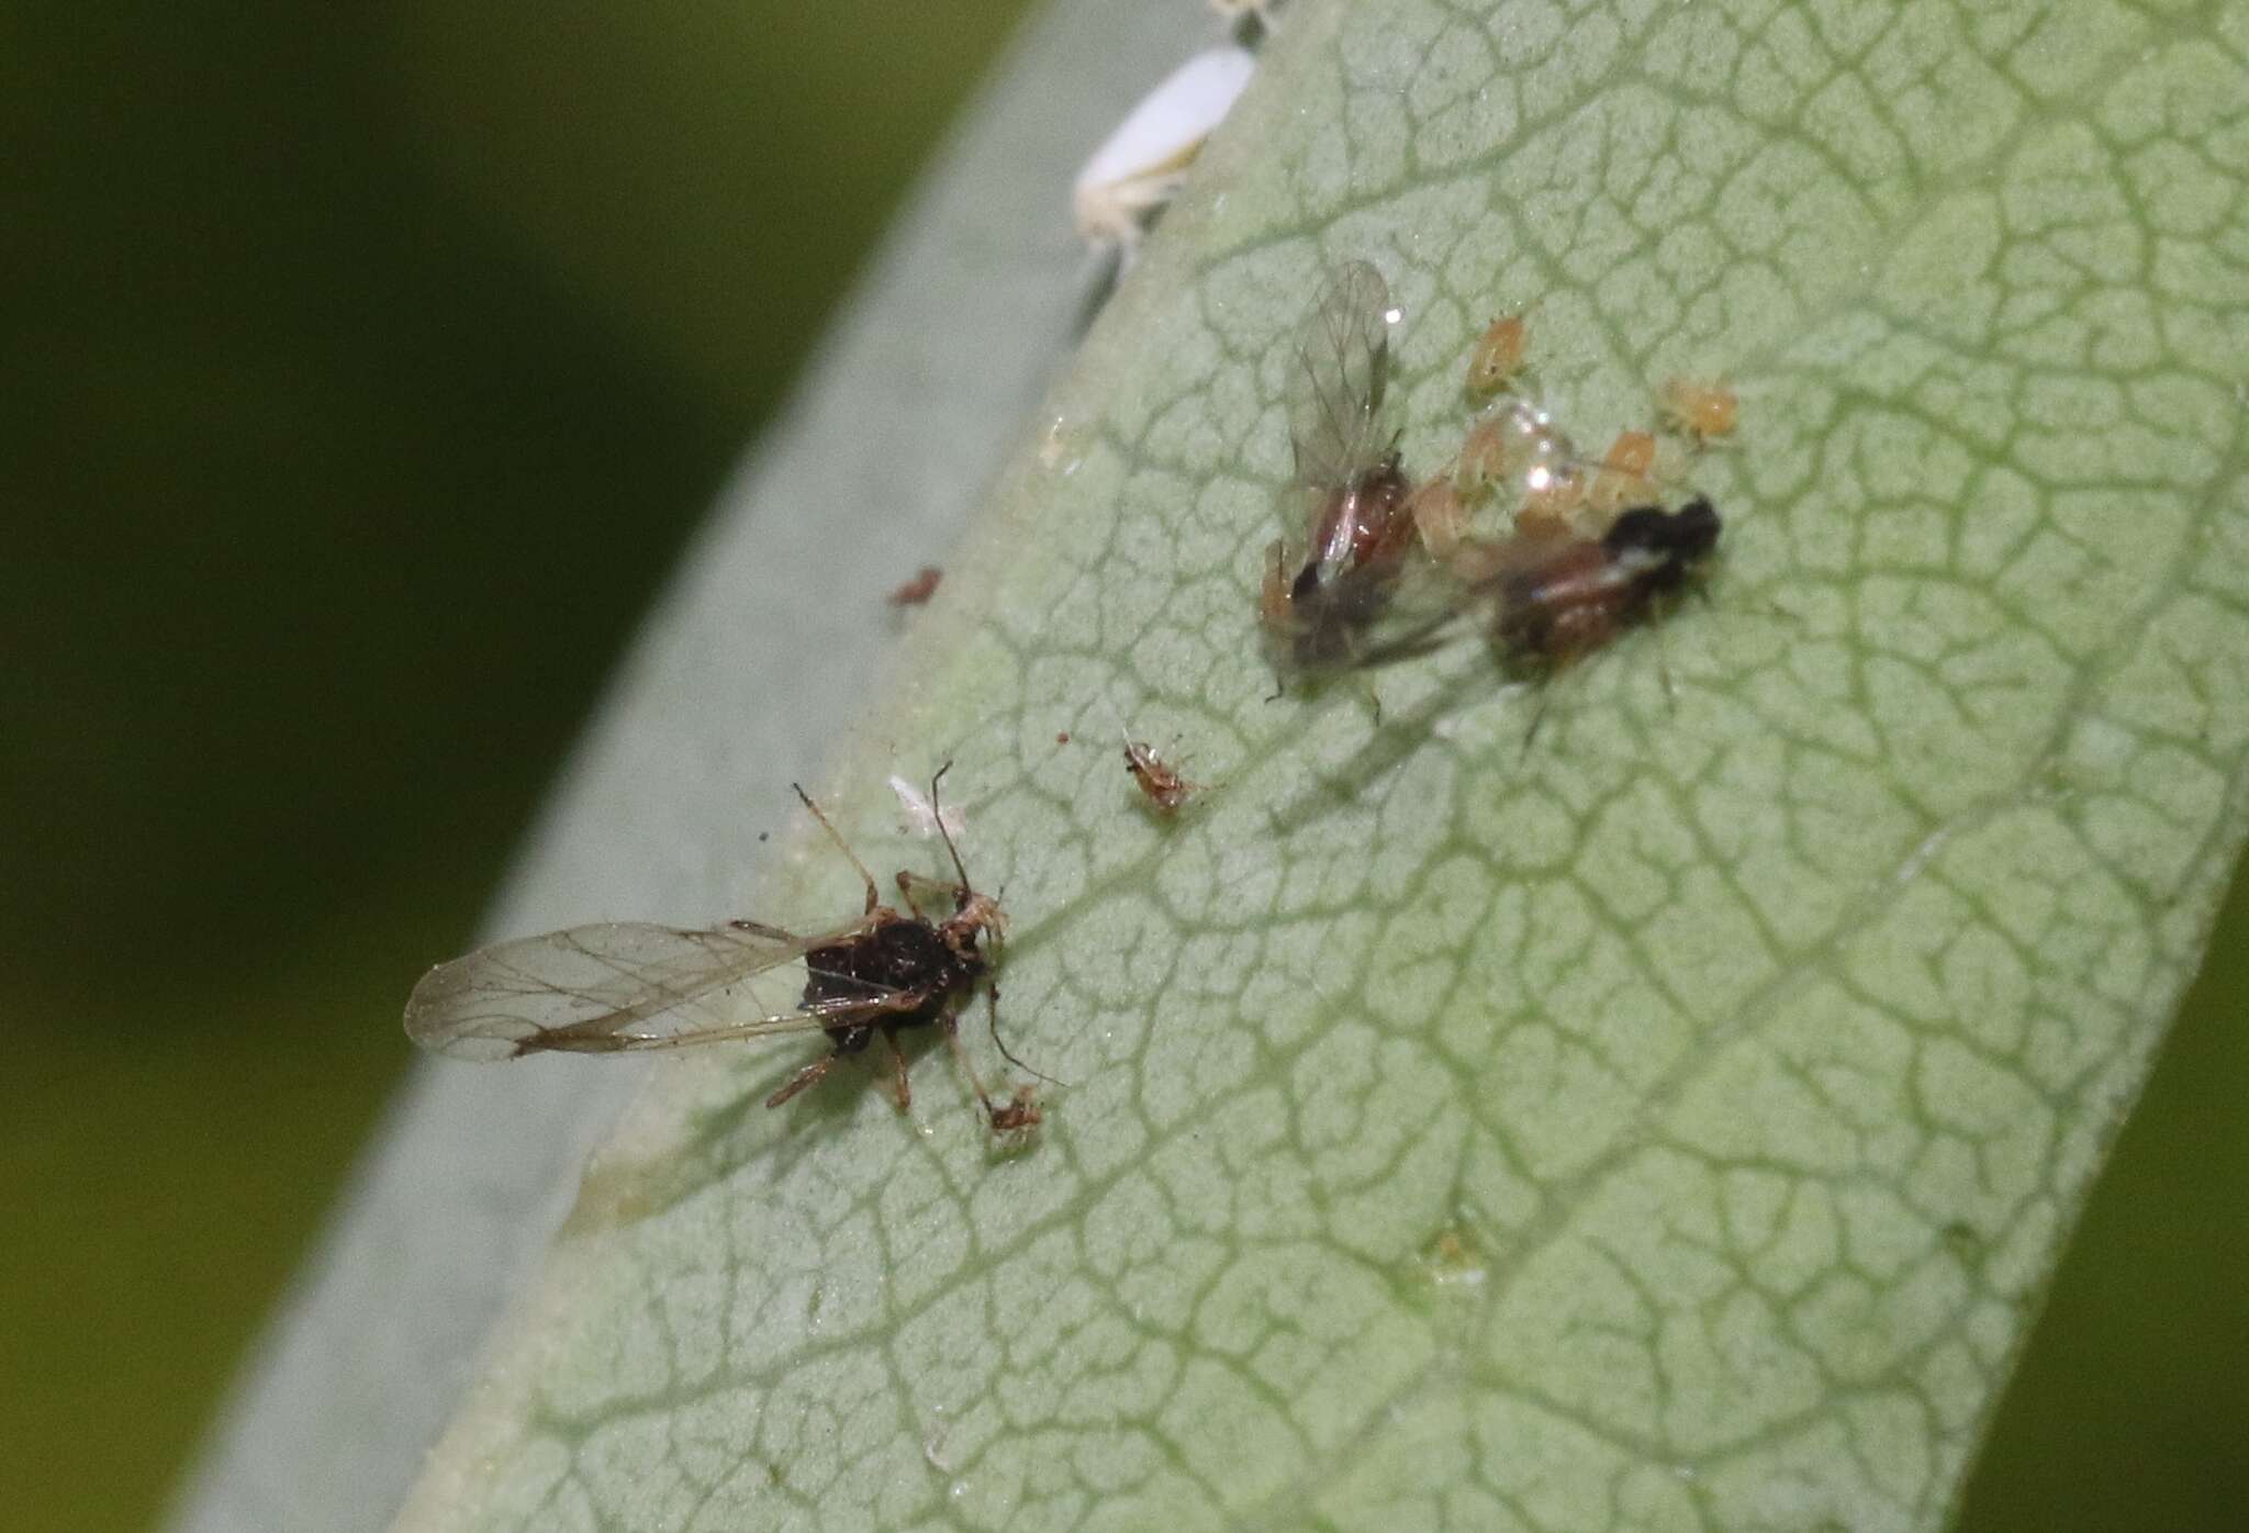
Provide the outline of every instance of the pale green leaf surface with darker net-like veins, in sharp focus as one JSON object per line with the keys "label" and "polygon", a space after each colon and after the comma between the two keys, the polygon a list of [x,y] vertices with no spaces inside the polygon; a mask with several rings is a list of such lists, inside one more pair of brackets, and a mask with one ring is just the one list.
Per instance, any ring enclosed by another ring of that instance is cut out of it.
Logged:
{"label": "pale green leaf surface with darker net-like veins, in sharp focus", "polygon": [[[1941,1526],[2242,841],[2245,45],[1293,7],[830,793],[936,872],[882,784],[956,762],[1044,1133],[659,1070],[400,1526]],[[1347,256],[1410,465],[1500,310],[1588,443],[1732,378],[1714,600],[1268,701]],[[798,836],[756,910],[852,899]]]}

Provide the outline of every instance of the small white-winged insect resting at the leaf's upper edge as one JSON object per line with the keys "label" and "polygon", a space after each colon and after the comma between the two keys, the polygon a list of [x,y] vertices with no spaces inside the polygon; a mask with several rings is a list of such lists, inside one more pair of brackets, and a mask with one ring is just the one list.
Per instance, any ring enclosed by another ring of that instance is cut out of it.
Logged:
{"label": "small white-winged insect resting at the leaf's upper edge", "polygon": [[1203,142],[1257,70],[1246,47],[1212,47],[1172,70],[1093,151],[1071,189],[1077,238],[1131,270],[1149,220],[1178,196]]}

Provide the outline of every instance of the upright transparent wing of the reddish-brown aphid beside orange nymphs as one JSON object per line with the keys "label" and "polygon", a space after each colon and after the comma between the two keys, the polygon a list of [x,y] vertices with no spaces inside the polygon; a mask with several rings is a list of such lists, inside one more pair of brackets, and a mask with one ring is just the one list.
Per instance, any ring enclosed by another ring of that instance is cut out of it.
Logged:
{"label": "upright transparent wing of the reddish-brown aphid beside orange nymphs", "polygon": [[1298,486],[1340,490],[1381,461],[1388,315],[1390,283],[1365,261],[1336,267],[1304,315],[1289,375]]}

